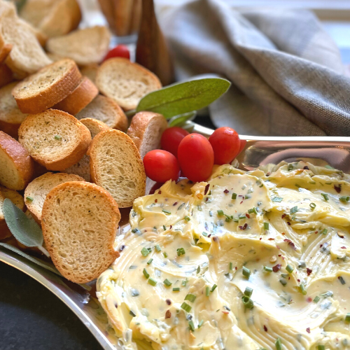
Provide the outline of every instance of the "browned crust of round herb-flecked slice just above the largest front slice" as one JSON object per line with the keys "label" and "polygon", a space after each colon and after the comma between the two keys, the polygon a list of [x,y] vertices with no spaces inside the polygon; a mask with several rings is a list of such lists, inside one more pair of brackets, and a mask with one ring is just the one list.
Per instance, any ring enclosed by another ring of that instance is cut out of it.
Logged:
{"label": "browned crust of round herb-flecked slice just above the largest front slice", "polygon": [[[71,165],[76,164],[81,158],[83,158],[83,155],[85,155],[87,151],[87,147],[90,145],[91,142],[91,134],[90,131],[83,125],[83,123],[80,123],[79,120],[71,116],[69,113],[58,111],[57,109],[49,109],[48,111],[45,111],[43,113],[59,113],[63,118],[68,118],[78,127],[78,134],[80,135],[80,138],[78,140],[78,143],[76,145],[76,148],[73,149],[73,151],[67,155],[64,158],[59,158],[57,160],[52,160],[50,157],[38,157],[35,155],[32,155],[33,159],[38,162],[40,165],[43,165],[48,170],[55,170],[55,171],[62,171],[66,168],[71,167]],[[26,127],[33,127],[33,124],[35,123],[36,118],[40,118],[41,113],[38,114],[32,114],[29,115],[25,121],[20,126],[20,129],[18,130],[18,137],[22,144],[25,144],[24,137],[25,137],[25,128]],[[62,121],[63,123],[63,121]]]}

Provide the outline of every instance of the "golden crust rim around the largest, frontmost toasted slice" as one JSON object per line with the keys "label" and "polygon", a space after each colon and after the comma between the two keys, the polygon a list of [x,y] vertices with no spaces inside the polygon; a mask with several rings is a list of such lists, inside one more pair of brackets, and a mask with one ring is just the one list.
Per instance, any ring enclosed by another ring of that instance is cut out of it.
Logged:
{"label": "golden crust rim around the largest, frontmost toasted slice", "polygon": [[[61,272],[61,274],[66,277],[66,279],[69,279],[75,283],[87,283],[93,279],[96,279],[109,267],[109,265],[111,265],[114,260],[116,260],[116,258],[119,257],[118,251],[115,251],[113,248],[114,239],[116,238],[116,230],[113,230],[113,232],[108,232],[109,237],[106,237],[106,241],[109,243],[108,251],[103,252],[103,263],[97,267],[94,274],[91,274],[88,277],[84,277],[77,275],[77,272],[67,272],[67,270],[62,267],[62,258],[59,257],[57,247],[55,246],[55,232],[52,232],[52,229],[50,229],[50,211],[52,210],[52,207],[55,206],[57,196],[60,193],[64,193],[64,191],[69,188],[79,188],[80,190],[84,189],[88,192],[94,193],[95,195],[102,195],[104,197],[105,203],[104,210],[106,210],[106,207],[108,206],[111,212],[113,212],[112,226],[114,226],[116,229],[118,228],[120,221],[120,211],[118,209],[118,204],[115,200],[113,200],[113,197],[106,190],[104,190],[104,188],[99,187],[94,183],[78,181],[62,183],[61,185],[53,188],[46,197],[42,211],[42,228],[45,246],[50,253],[52,262],[55,264],[55,267],[57,267],[59,272]],[[89,237],[87,236],[86,239],[89,239]]]}

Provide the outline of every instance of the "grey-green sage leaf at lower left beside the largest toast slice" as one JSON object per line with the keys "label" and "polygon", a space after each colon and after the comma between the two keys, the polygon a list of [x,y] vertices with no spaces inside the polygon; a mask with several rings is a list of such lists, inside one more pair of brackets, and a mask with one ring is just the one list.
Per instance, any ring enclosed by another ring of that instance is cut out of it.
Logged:
{"label": "grey-green sage leaf at lower left beside the largest toast slice", "polygon": [[41,246],[43,232],[40,226],[15,206],[8,198],[3,201],[3,216],[15,239],[25,246]]}

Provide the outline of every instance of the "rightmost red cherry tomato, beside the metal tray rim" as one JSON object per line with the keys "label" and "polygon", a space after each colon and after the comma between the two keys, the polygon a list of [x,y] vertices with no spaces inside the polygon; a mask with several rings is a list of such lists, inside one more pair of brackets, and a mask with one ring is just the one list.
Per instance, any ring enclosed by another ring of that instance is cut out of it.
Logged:
{"label": "rightmost red cherry tomato, beside the metal tray rim", "polygon": [[216,129],[209,137],[209,142],[214,150],[214,163],[218,165],[232,162],[241,146],[239,135],[230,127]]}

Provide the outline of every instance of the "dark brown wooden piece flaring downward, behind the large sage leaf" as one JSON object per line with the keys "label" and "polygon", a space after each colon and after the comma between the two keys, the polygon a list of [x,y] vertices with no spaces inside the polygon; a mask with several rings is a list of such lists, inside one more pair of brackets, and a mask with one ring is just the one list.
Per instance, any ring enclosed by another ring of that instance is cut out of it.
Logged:
{"label": "dark brown wooden piece flaring downward, behind the large sage leaf", "polygon": [[174,82],[172,57],[155,17],[153,0],[142,1],[136,62],[153,71],[160,78],[163,86]]}

